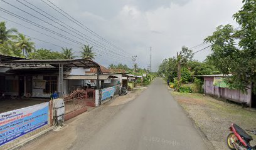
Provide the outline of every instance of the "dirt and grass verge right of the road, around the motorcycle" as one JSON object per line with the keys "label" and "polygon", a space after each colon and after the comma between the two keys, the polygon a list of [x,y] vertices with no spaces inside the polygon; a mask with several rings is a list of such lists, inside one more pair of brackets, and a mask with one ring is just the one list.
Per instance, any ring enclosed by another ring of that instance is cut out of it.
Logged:
{"label": "dirt and grass verge right of the road, around the motorcycle", "polygon": [[[228,149],[226,138],[230,124],[236,123],[243,129],[256,128],[256,111],[253,109],[243,109],[237,104],[226,103],[198,93],[171,91],[171,94],[216,149]],[[256,136],[252,137],[254,141],[251,144],[254,145]]]}

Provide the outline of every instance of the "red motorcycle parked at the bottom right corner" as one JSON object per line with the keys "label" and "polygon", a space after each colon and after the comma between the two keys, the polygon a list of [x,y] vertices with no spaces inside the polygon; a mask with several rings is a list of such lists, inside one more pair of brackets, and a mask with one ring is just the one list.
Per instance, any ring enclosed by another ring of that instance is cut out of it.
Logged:
{"label": "red motorcycle parked at the bottom right corner", "polygon": [[[237,124],[230,126],[232,133],[228,134],[227,144],[228,148],[232,150],[256,150],[256,146],[251,146],[252,136],[248,135],[242,128]],[[255,134],[255,131],[250,131]]]}

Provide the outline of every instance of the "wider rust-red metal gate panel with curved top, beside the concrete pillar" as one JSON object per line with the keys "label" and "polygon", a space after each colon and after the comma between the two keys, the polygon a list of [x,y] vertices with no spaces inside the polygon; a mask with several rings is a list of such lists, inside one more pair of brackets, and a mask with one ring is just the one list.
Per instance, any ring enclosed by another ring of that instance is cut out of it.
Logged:
{"label": "wider rust-red metal gate panel with curved top, beside the concrete pillar", "polygon": [[87,92],[84,89],[77,89],[73,93],[64,96],[63,99],[65,104],[65,121],[87,111]]}

